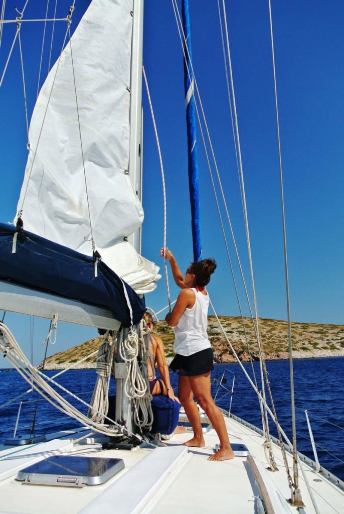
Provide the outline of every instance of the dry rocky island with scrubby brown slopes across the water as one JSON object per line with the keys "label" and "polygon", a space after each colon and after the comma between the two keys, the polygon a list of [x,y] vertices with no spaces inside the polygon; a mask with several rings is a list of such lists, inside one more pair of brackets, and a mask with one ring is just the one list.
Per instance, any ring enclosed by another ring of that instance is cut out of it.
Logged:
{"label": "dry rocky island with scrubby brown slopes across the water", "polygon": [[[258,347],[252,320],[240,317],[220,316],[220,321],[234,349],[242,362],[250,360],[247,350],[247,340],[250,343],[251,356],[258,360]],[[259,330],[262,351],[266,360],[288,359],[288,324],[286,321],[260,319]],[[165,345],[168,360],[173,356],[174,332],[164,321],[155,323],[155,332]],[[245,336],[246,332],[246,336]],[[214,360],[217,363],[235,362],[226,338],[215,318],[208,317],[208,336],[214,350]],[[76,364],[84,357],[98,350],[103,337],[95,337],[78,346],[73,346],[64,352],[48,357],[44,368],[46,370],[61,370],[74,364],[75,369],[95,368],[97,354]],[[316,357],[344,356],[344,325],[322,325],[317,323],[292,322],[293,357],[295,359]]]}

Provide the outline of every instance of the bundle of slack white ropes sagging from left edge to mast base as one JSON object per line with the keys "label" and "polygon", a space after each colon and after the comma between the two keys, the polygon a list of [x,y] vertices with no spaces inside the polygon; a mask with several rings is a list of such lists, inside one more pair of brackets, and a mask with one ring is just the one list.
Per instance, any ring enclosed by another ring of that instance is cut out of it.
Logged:
{"label": "bundle of slack white ropes sagging from left edge to mast base", "polygon": [[[85,402],[78,396],[74,395],[66,388],[61,386],[58,382],[55,382],[52,378],[44,375],[39,370],[34,368],[34,366],[29,362],[24,353],[21,350],[21,347],[18,345],[14,336],[10,332],[9,328],[0,323],[0,350],[3,351],[4,356],[8,358],[14,368],[20,373],[20,375],[30,383],[32,380],[32,389],[39,392],[43,398],[49,401],[56,409],[60,410],[64,414],[77,419],[79,423],[84,425],[87,428],[93,429],[101,434],[108,435],[110,437],[119,435],[119,433],[112,430],[110,427],[105,425],[100,425],[98,423],[92,422],[87,416],[85,416],[82,412],[76,409],[71,405],[65,398],[63,398],[59,393],[57,393],[47,382],[51,382],[54,386],[58,387],[65,393],[72,396],[74,399],[80,401],[86,407],[91,407],[89,403]],[[102,414],[102,413],[101,413]],[[109,418],[108,416],[104,416],[106,419],[113,424],[118,431],[123,434],[127,433],[129,435],[135,435],[131,433],[126,427],[119,425],[116,421]]]}

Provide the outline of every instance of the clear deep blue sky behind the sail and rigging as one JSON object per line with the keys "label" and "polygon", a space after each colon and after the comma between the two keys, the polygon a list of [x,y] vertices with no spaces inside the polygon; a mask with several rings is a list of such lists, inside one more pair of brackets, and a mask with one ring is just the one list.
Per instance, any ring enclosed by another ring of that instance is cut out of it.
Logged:
{"label": "clear deep blue sky behind the sail and rigging", "polygon": [[[24,2],[22,2],[24,4]],[[77,0],[73,27],[89,2]],[[7,0],[5,17],[13,19],[14,0]],[[31,5],[32,4],[32,5]],[[27,16],[44,17],[45,3],[29,2]],[[41,4],[41,5],[40,5]],[[54,3],[51,3],[52,6]],[[60,0],[63,14],[70,2]],[[247,286],[247,248],[216,0],[189,0],[194,69],[227,198]],[[52,9],[52,6],[50,7]],[[279,190],[274,85],[266,2],[227,1],[227,21],[236,91],[243,171],[249,216],[258,311],[261,317],[286,319],[284,263]],[[21,6],[20,6],[21,7]],[[40,12],[39,12],[40,11]],[[342,323],[344,5],[296,0],[272,2],[280,115],[285,214],[293,321]],[[43,25],[22,27],[29,112],[37,88]],[[25,30],[24,30],[25,29]],[[182,270],[192,260],[192,236],[187,185],[187,150],[183,62],[174,13],[169,0],[146,0],[144,66],[155,109],[167,188],[167,245]],[[61,32],[65,30],[61,26]],[[4,28],[0,66],[4,67],[15,26]],[[12,35],[11,35],[12,34]],[[35,35],[37,41],[35,40]],[[57,50],[56,50],[57,51]],[[57,54],[55,51],[54,58]],[[30,59],[33,64],[30,64]],[[45,65],[47,68],[47,63]],[[13,219],[26,162],[26,129],[17,48],[0,90],[0,219]],[[163,206],[159,160],[145,92],[142,253],[160,262]],[[230,270],[199,129],[203,255],[218,262],[209,292],[219,314],[238,316]],[[223,211],[223,209],[222,209]],[[240,300],[248,314],[230,233]],[[162,263],[161,263],[162,264]],[[171,297],[178,293],[171,284]],[[166,305],[164,278],[146,297],[159,310]],[[24,345],[29,318],[7,315]],[[48,322],[35,322],[34,360],[39,360]],[[59,328],[59,347],[93,337],[93,329]],[[28,347],[28,346],[27,346]],[[52,351],[51,351],[52,353]],[[3,364],[0,364],[3,365]]]}

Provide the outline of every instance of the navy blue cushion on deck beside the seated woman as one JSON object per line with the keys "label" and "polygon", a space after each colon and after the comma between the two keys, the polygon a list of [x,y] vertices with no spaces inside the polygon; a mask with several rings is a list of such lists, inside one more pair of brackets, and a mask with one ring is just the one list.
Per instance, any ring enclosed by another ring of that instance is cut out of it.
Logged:
{"label": "navy blue cushion on deck beside the seated woman", "polygon": [[151,408],[154,416],[151,432],[171,434],[178,425],[180,404],[167,396],[158,394],[152,397]]}

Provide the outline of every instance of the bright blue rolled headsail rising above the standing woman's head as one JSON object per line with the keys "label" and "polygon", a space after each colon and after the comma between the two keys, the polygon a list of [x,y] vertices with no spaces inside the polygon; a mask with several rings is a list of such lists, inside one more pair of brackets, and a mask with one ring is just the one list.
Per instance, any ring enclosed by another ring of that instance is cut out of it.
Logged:
{"label": "bright blue rolled headsail rising above the standing woman's head", "polygon": [[194,74],[192,67],[191,34],[188,0],[182,0],[184,32],[184,89],[187,126],[188,175],[191,206],[191,226],[193,233],[194,261],[199,261],[202,253],[199,201],[199,174],[197,165],[196,117],[194,97]]}

